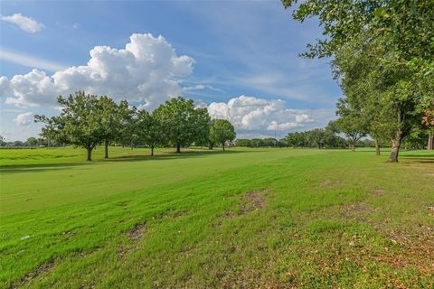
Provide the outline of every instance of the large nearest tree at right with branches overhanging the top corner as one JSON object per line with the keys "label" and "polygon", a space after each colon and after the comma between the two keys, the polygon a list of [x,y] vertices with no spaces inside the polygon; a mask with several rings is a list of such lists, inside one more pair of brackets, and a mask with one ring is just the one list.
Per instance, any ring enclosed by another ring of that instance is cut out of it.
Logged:
{"label": "large nearest tree at right with branches overhanging the top corner", "polygon": [[[283,1],[287,8],[296,3]],[[362,73],[374,80],[379,91],[376,97],[381,100],[378,108],[385,107],[392,114],[386,117],[392,119],[395,131],[390,162],[397,162],[402,138],[418,128],[414,119],[421,111],[420,104],[434,96],[434,2],[307,0],[297,5],[293,16],[301,22],[316,16],[324,28],[325,38],[308,44],[305,56],[340,56],[335,67],[343,72],[343,78],[357,79]],[[348,43],[356,44],[343,57],[342,49],[348,48]],[[347,70],[342,61],[353,58],[359,60],[359,72]],[[366,70],[365,63],[372,67]],[[368,76],[366,72],[372,73]]]}

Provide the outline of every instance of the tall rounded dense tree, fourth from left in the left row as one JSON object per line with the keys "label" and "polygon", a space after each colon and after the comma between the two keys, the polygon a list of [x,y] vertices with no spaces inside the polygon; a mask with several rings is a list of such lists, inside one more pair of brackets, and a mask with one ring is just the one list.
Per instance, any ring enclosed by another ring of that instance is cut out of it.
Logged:
{"label": "tall rounded dense tree, fourth from left in the left row", "polygon": [[154,114],[167,142],[175,145],[176,153],[181,153],[181,146],[202,142],[209,131],[208,111],[195,108],[192,99],[172,98],[157,107]]}

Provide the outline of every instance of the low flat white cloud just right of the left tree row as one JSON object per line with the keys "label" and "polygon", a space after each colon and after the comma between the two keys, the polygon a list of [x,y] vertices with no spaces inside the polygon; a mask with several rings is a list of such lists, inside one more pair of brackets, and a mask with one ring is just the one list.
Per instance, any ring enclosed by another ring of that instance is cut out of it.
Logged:
{"label": "low flat white cloud just right of the left tree row", "polygon": [[228,103],[213,102],[208,111],[212,118],[228,119],[239,131],[290,130],[314,121],[305,111],[288,109],[283,100],[244,95]]}

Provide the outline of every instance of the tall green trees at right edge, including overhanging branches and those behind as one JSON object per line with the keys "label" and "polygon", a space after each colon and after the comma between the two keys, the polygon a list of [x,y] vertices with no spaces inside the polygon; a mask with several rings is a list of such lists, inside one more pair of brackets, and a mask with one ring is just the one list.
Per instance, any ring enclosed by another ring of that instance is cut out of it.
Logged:
{"label": "tall green trees at right edge, including overhanging branches and those behind", "polygon": [[[283,0],[300,22],[317,17],[324,39],[303,56],[332,57],[344,98],[335,125],[353,143],[369,134],[392,140],[390,162],[403,142],[434,132],[434,1]],[[297,5],[296,5],[297,4]]]}

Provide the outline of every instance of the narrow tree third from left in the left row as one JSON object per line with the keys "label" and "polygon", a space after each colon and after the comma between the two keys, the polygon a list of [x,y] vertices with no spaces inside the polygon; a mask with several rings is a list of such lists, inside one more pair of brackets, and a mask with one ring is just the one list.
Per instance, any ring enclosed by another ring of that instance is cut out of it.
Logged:
{"label": "narrow tree third from left in the left row", "polygon": [[154,155],[154,149],[158,145],[164,144],[163,127],[159,119],[146,110],[137,113],[137,132],[140,141],[151,149],[151,155]]}

